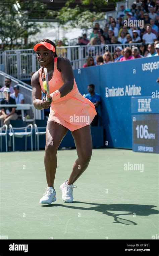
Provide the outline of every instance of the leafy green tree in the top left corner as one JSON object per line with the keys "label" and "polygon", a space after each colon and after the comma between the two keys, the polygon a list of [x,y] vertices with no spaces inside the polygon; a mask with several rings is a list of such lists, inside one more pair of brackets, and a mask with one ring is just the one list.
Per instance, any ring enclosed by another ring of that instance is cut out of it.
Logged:
{"label": "leafy green tree in the top left corner", "polygon": [[[40,32],[42,27],[48,26],[47,23],[42,25],[29,22],[32,13],[36,17],[41,17],[42,10],[44,11],[46,8],[45,4],[38,1],[23,1],[20,2],[20,5],[16,5],[16,8],[14,7],[15,4],[15,0],[0,1],[0,38],[5,50],[14,49],[13,42],[17,39],[24,39],[25,44],[20,45],[20,48],[28,48],[28,36],[35,35]],[[17,48],[18,45],[16,45]]]}

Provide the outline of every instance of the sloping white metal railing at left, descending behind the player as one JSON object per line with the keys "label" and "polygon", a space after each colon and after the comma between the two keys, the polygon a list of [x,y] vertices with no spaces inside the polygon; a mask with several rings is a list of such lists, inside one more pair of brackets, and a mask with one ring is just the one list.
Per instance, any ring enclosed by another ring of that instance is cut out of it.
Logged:
{"label": "sloping white metal railing at left, descending behind the player", "polygon": [[[3,87],[4,86],[4,81],[5,78],[10,78],[11,79],[11,85],[10,86],[14,86],[14,85],[18,85],[20,88],[20,93],[22,93],[24,95],[24,103],[26,104],[33,104],[33,100],[32,100],[32,86],[23,83],[21,81],[19,81],[18,79],[16,79],[15,77],[6,74],[2,71],[0,71],[0,86]],[[44,110],[38,110],[35,107],[31,108],[30,110],[27,110],[27,113],[30,115],[30,118],[32,119],[41,119],[41,111]]]}

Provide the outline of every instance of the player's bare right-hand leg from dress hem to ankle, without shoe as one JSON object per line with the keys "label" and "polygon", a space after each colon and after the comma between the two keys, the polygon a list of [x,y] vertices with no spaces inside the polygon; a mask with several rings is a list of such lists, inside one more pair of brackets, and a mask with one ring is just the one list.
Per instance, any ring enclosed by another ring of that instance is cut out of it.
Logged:
{"label": "player's bare right-hand leg from dress hem to ankle, without shoe", "polygon": [[92,135],[90,125],[84,126],[72,133],[77,156],[67,184],[73,184],[87,169],[92,156]]}

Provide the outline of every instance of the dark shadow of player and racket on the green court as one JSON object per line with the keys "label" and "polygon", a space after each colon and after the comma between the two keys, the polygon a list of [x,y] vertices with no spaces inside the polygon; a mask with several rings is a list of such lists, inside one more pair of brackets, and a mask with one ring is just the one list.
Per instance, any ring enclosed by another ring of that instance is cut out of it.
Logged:
{"label": "dark shadow of player and racket on the green court", "polygon": [[[73,206],[73,204],[50,204],[50,205],[43,205],[43,207],[55,207],[55,206],[62,206],[66,208],[71,209],[77,209],[77,210],[88,210],[88,211],[97,211],[101,212],[103,214],[106,214],[108,216],[112,216],[114,218],[114,223],[121,223],[124,225],[137,225],[137,223],[134,221],[136,216],[149,216],[152,214],[159,214],[158,210],[152,209],[154,207],[157,207],[156,205],[144,205],[144,204],[101,204],[101,203],[87,203],[87,202],[80,202],[80,201],[73,201],[73,203],[85,203],[88,205],[96,205],[93,207],[85,208],[85,207],[78,207]],[[110,213],[110,212],[111,213]],[[115,214],[112,212],[127,212],[127,213],[121,213],[121,214]],[[131,220],[126,220],[123,218],[120,218],[118,216],[125,216],[125,215],[131,215]],[[133,219],[133,221],[132,221]]]}

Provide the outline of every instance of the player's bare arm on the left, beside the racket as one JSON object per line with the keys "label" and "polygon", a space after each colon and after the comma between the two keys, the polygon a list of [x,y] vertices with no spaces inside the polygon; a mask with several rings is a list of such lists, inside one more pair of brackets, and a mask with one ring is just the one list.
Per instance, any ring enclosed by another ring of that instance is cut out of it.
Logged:
{"label": "player's bare arm on the left, beside the racket", "polygon": [[33,105],[36,109],[43,109],[41,106],[41,86],[39,83],[39,71],[35,72],[31,79],[31,85],[33,88]]}

